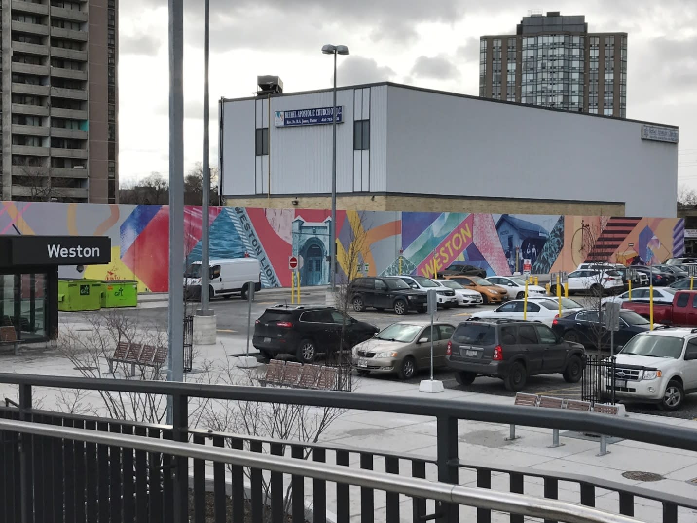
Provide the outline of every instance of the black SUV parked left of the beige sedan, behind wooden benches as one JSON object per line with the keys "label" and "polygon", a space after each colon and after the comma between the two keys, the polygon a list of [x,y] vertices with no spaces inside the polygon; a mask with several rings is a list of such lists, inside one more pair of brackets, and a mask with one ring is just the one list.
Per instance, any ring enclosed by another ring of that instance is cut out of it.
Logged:
{"label": "black SUV parked left of the beige sedan, behind wooden benches", "polygon": [[[341,343],[342,326],[346,325]],[[353,319],[324,305],[276,305],[266,309],[254,322],[252,345],[261,356],[293,354],[309,363],[319,352],[351,349],[380,331],[374,325]]]}

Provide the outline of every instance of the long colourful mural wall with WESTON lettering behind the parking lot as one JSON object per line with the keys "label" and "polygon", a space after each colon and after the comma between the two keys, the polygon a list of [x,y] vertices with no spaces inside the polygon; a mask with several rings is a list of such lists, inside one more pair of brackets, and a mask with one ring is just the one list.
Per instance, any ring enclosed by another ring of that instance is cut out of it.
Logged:
{"label": "long colourful mural wall with WESTON lettering behind the parking lot", "polygon": [[[201,207],[185,209],[182,263],[201,259]],[[301,255],[302,285],[328,282],[330,211],[215,207],[209,211],[210,257],[261,262],[264,287],[289,287],[288,257]],[[141,291],[166,291],[167,206],[0,202],[0,234],[105,235],[112,263],[86,278],[137,280]],[[660,263],[680,255],[677,218],[339,211],[337,260],[344,273],[433,275],[453,261],[489,275],[572,271],[583,261]],[[63,277],[79,278],[72,268]]]}

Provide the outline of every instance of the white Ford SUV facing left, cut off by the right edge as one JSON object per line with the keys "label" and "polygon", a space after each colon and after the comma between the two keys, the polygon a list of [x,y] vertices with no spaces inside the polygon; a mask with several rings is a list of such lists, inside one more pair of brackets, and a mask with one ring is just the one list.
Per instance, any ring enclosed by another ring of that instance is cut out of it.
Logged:
{"label": "white Ford SUV facing left, cut off by the right edge", "polygon": [[697,329],[656,328],[637,334],[616,358],[619,400],[657,403],[676,411],[685,394],[697,392]]}

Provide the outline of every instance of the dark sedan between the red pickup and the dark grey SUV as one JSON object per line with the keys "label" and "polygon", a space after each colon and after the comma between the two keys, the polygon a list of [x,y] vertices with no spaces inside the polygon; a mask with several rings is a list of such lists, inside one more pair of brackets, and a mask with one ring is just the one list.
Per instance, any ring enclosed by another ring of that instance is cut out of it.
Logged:
{"label": "dark sedan between the red pickup and the dark grey SUV", "polygon": [[[580,343],[584,347],[597,349],[610,347],[610,331],[601,321],[597,309],[585,309],[557,318],[552,324],[552,330],[567,342]],[[650,325],[645,318],[633,310],[620,309],[620,330],[615,331],[613,346],[621,347],[634,335],[649,330]]]}

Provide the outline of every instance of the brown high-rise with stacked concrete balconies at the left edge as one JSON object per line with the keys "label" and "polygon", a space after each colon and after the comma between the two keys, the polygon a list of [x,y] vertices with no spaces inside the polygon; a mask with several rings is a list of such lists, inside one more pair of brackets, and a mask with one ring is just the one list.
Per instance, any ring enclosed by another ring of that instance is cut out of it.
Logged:
{"label": "brown high-rise with stacked concrete balconies at the left edge", "polygon": [[1,0],[0,199],[116,203],[118,0]]}

